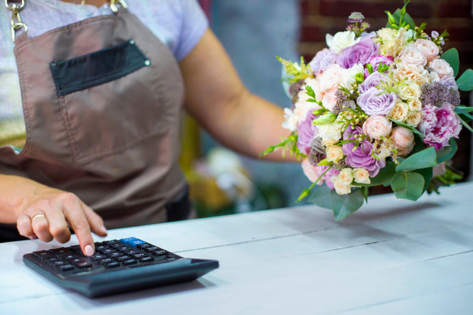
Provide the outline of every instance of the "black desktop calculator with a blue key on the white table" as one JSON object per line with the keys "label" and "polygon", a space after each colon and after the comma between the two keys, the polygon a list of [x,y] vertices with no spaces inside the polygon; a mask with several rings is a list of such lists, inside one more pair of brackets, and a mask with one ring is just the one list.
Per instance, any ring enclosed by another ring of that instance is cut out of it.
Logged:
{"label": "black desktop calculator with a blue key on the white table", "polygon": [[217,260],[181,257],[133,237],[96,242],[90,257],[73,245],[27,253],[23,262],[86,297],[192,281],[219,267]]}

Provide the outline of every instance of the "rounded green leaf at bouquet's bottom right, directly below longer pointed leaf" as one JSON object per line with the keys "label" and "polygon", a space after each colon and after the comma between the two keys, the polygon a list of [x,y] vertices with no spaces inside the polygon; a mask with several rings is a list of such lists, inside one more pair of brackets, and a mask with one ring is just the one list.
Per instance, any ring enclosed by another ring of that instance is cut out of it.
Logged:
{"label": "rounded green leaf at bouquet's bottom right, directly below longer pointed leaf", "polygon": [[393,176],[391,188],[398,199],[416,201],[424,192],[425,179],[416,172],[399,172]]}

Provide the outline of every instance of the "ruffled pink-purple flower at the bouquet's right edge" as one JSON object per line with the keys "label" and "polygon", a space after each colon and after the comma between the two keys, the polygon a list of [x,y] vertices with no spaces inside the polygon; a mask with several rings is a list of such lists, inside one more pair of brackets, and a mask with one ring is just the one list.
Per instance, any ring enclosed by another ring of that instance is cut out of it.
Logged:
{"label": "ruffled pink-purple flower at the bouquet's right edge", "polygon": [[458,138],[461,123],[452,104],[444,103],[441,108],[425,105],[419,130],[425,135],[424,143],[439,150],[448,145],[450,138]]}

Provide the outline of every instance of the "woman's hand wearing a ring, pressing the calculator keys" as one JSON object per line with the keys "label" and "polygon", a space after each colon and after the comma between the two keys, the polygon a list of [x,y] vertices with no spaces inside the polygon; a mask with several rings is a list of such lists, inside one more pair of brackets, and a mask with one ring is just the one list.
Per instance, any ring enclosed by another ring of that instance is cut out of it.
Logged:
{"label": "woman's hand wearing a ring, pressing the calculator keys", "polygon": [[71,192],[11,175],[0,175],[0,188],[5,188],[0,189],[0,201],[10,200],[10,209],[0,205],[0,221],[16,220],[19,233],[27,238],[64,243],[71,239],[71,227],[82,253],[90,256],[95,252],[91,232],[107,235],[102,218]]}

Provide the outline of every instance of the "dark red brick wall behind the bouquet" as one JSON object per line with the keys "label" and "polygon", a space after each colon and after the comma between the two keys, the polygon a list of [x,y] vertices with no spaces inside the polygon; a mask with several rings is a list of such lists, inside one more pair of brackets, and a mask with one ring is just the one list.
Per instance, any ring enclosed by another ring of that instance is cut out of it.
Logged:
{"label": "dark red brick wall behind the bouquet", "polygon": [[[298,50],[308,62],[320,49],[326,47],[325,35],[343,31],[351,12],[362,12],[373,31],[387,23],[385,10],[394,12],[402,8],[403,0],[301,0],[302,24]],[[471,0],[412,0],[407,12],[416,25],[427,23],[426,32],[439,33],[447,29],[449,40],[444,50],[455,47],[460,55],[460,73],[473,68],[473,18]],[[462,93],[462,104],[470,104],[468,93]],[[463,128],[459,151],[454,157],[454,166],[470,175],[470,131]]]}

